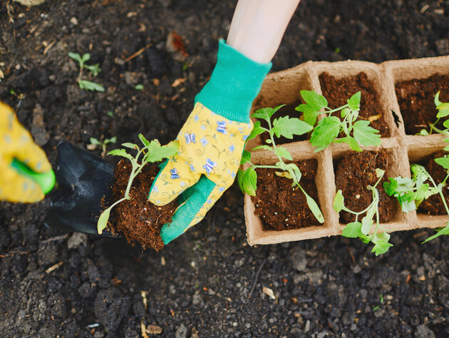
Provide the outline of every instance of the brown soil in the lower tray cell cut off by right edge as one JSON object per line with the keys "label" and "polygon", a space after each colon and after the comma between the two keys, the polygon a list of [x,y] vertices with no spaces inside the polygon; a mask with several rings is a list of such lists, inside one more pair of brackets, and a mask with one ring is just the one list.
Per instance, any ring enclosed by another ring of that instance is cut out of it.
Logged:
{"label": "brown soil in the lower tray cell cut off by right edge", "polygon": [[[444,151],[439,151],[428,158],[428,160],[423,163],[425,170],[430,174],[436,184],[443,182],[447,173],[446,170],[435,162],[435,158],[442,158],[446,153]],[[433,184],[430,180],[426,181],[431,187]],[[449,188],[448,185],[443,187],[443,196],[446,203],[449,205]],[[427,200],[423,200],[418,207],[418,211],[425,212],[428,215],[447,215],[446,210],[441,200],[440,194],[432,195]]]}

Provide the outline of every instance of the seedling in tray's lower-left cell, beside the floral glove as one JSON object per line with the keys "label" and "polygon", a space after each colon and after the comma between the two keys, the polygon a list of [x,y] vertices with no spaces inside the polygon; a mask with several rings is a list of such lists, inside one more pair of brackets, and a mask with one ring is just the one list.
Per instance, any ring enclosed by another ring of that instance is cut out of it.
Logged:
{"label": "seedling in tray's lower-left cell, beside the floral glove", "polygon": [[265,141],[267,145],[259,145],[252,150],[271,150],[277,156],[279,161],[275,165],[254,165],[253,163],[251,163],[251,153],[247,150],[244,150],[242,154],[241,164],[249,163],[249,165],[251,166],[246,170],[239,170],[239,172],[237,173],[239,187],[244,193],[254,196],[256,195],[257,190],[256,169],[277,169],[279,170],[276,172],[278,176],[291,179],[293,181],[291,185],[293,187],[299,188],[301,192],[304,193],[304,195],[306,196],[307,205],[309,205],[311,212],[314,214],[316,219],[319,220],[319,222],[323,223],[324,217],[321,213],[321,210],[319,209],[318,204],[316,204],[314,199],[311,198],[299,184],[299,180],[301,180],[301,170],[299,170],[298,166],[294,163],[285,163],[284,159],[289,161],[293,160],[291,154],[286,148],[276,145],[276,143],[274,142],[274,135],[276,135],[277,138],[284,136],[284,138],[291,139],[293,138],[293,135],[303,135],[304,133],[308,133],[310,130],[312,130],[313,127],[309,123],[305,123],[304,121],[299,120],[299,118],[290,118],[289,116],[275,118],[272,122],[273,114],[279,111],[279,109],[283,106],[284,105],[277,106],[276,108],[262,108],[252,114],[254,118],[267,121],[268,128],[262,127],[260,125],[260,121],[257,121],[256,123],[254,123],[254,128],[251,134],[249,134],[247,140],[251,140],[252,138],[255,138],[257,135],[260,135],[262,133],[269,134],[269,138]]}

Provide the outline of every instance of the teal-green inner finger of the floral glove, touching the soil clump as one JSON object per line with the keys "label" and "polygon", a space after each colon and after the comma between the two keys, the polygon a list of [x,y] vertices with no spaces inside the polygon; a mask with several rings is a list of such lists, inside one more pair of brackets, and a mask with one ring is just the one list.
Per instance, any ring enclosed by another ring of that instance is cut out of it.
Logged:
{"label": "teal-green inner finger of the floral glove, touching the soil clump", "polygon": [[164,244],[170,243],[185,232],[185,229],[192,222],[193,217],[200,211],[202,205],[206,203],[214,188],[215,183],[205,175],[202,175],[192,188],[185,190],[180,195],[178,198],[180,207],[177,208],[175,215],[173,215],[172,222],[163,225],[160,230],[160,237],[162,237]]}

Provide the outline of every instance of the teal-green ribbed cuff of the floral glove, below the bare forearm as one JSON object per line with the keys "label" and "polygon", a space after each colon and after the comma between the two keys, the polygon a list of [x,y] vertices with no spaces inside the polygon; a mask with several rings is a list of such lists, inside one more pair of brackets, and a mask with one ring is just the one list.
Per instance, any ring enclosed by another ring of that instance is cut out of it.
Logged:
{"label": "teal-green ribbed cuff of the floral glove, below the bare forearm", "polygon": [[252,101],[259,94],[272,63],[257,63],[220,40],[217,64],[210,81],[195,97],[214,113],[249,123]]}

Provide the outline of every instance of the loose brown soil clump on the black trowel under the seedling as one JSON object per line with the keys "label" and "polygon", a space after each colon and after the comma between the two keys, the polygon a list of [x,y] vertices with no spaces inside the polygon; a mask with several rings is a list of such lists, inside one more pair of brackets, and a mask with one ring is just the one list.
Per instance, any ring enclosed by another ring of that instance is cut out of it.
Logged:
{"label": "loose brown soil clump on the black trowel under the seedling", "polygon": [[[131,170],[132,165],[125,160],[120,160],[115,166],[114,201],[125,195]],[[158,171],[158,165],[145,165],[133,181],[130,200],[119,203],[111,212],[114,227],[111,232],[125,236],[129,243],[139,242],[144,249],[153,247],[156,251],[164,247],[160,229],[165,223],[171,222],[177,208],[176,201],[158,207],[148,200],[148,193]]]}

